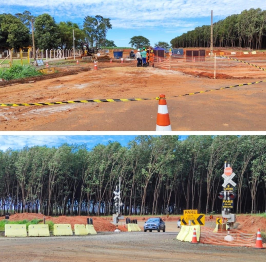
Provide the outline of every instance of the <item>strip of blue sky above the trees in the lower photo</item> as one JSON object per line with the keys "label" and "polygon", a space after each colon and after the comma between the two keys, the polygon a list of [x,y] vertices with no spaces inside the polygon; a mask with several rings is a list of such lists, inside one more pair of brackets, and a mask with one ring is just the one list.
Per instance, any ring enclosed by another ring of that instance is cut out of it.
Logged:
{"label": "strip of blue sky above the trees in the lower photo", "polygon": [[[45,134],[27,134],[24,132],[15,132],[11,135],[0,135],[0,150],[6,151],[8,148],[13,150],[22,149],[25,146],[32,147],[32,146],[48,146],[48,147],[59,147],[63,143],[68,144],[87,144],[88,149],[92,149],[97,144],[108,144],[110,142],[119,142],[122,146],[127,146],[128,142],[134,140],[134,138],[138,135],[113,135],[113,134],[103,134],[103,135],[77,135],[76,132],[74,135],[61,135],[60,133],[51,135]],[[180,139],[185,139],[186,136],[180,136]]]}

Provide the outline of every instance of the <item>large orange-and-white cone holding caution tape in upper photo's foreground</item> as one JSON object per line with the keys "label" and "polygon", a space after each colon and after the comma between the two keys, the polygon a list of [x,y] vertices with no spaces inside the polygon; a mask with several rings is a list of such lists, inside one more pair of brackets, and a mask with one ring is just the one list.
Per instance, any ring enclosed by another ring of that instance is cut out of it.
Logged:
{"label": "large orange-and-white cone holding caution tape in upper photo's foreground", "polygon": [[156,131],[172,131],[164,94],[159,96]]}

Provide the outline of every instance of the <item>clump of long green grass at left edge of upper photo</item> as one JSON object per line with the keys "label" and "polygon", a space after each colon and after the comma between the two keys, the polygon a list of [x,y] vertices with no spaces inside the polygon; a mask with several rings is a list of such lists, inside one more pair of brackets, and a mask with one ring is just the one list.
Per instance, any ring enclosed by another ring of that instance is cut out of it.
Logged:
{"label": "clump of long green grass at left edge of upper photo", "polygon": [[34,67],[27,65],[13,65],[10,68],[1,68],[0,69],[0,78],[5,80],[19,79],[30,76],[42,75],[41,72],[37,71]]}

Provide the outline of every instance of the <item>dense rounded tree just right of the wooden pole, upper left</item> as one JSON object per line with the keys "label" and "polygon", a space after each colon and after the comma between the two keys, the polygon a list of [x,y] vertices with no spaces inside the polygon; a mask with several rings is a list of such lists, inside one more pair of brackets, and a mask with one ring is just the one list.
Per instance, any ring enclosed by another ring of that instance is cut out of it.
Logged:
{"label": "dense rounded tree just right of the wooden pole, upper left", "polygon": [[35,19],[34,39],[39,49],[57,49],[60,44],[58,26],[48,14],[42,14]]}

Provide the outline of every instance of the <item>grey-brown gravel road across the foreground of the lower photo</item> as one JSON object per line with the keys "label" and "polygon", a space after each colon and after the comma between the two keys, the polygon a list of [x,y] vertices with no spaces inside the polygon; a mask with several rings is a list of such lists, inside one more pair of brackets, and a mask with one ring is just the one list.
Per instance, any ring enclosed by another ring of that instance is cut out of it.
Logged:
{"label": "grey-brown gravel road across the foreground of the lower photo", "polygon": [[0,261],[265,261],[266,249],[191,244],[177,232],[99,232],[89,236],[0,237]]}

